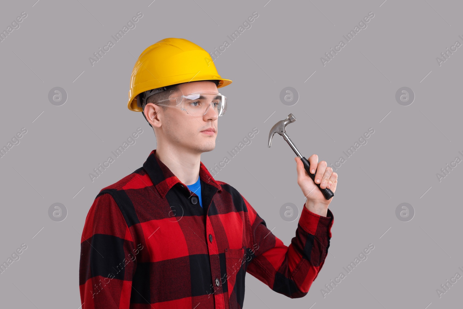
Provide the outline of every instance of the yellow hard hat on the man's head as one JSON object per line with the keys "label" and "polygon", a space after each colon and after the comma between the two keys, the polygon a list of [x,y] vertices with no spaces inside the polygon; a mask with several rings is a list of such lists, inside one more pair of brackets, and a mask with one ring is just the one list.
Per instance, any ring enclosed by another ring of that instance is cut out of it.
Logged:
{"label": "yellow hard hat on the man's head", "polygon": [[138,57],[130,77],[127,107],[142,112],[138,95],[144,91],[183,82],[216,80],[217,88],[232,83],[217,73],[211,55],[184,38],[165,38],[146,48]]}

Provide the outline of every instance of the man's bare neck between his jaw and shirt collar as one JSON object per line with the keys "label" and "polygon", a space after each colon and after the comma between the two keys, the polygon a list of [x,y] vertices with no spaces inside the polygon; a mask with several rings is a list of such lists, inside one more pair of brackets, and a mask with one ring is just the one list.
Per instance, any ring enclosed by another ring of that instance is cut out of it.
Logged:
{"label": "man's bare neck between his jaw and shirt collar", "polygon": [[156,148],[155,156],[184,184],[198,181],[201,154],[186,152],[175,148]]}

